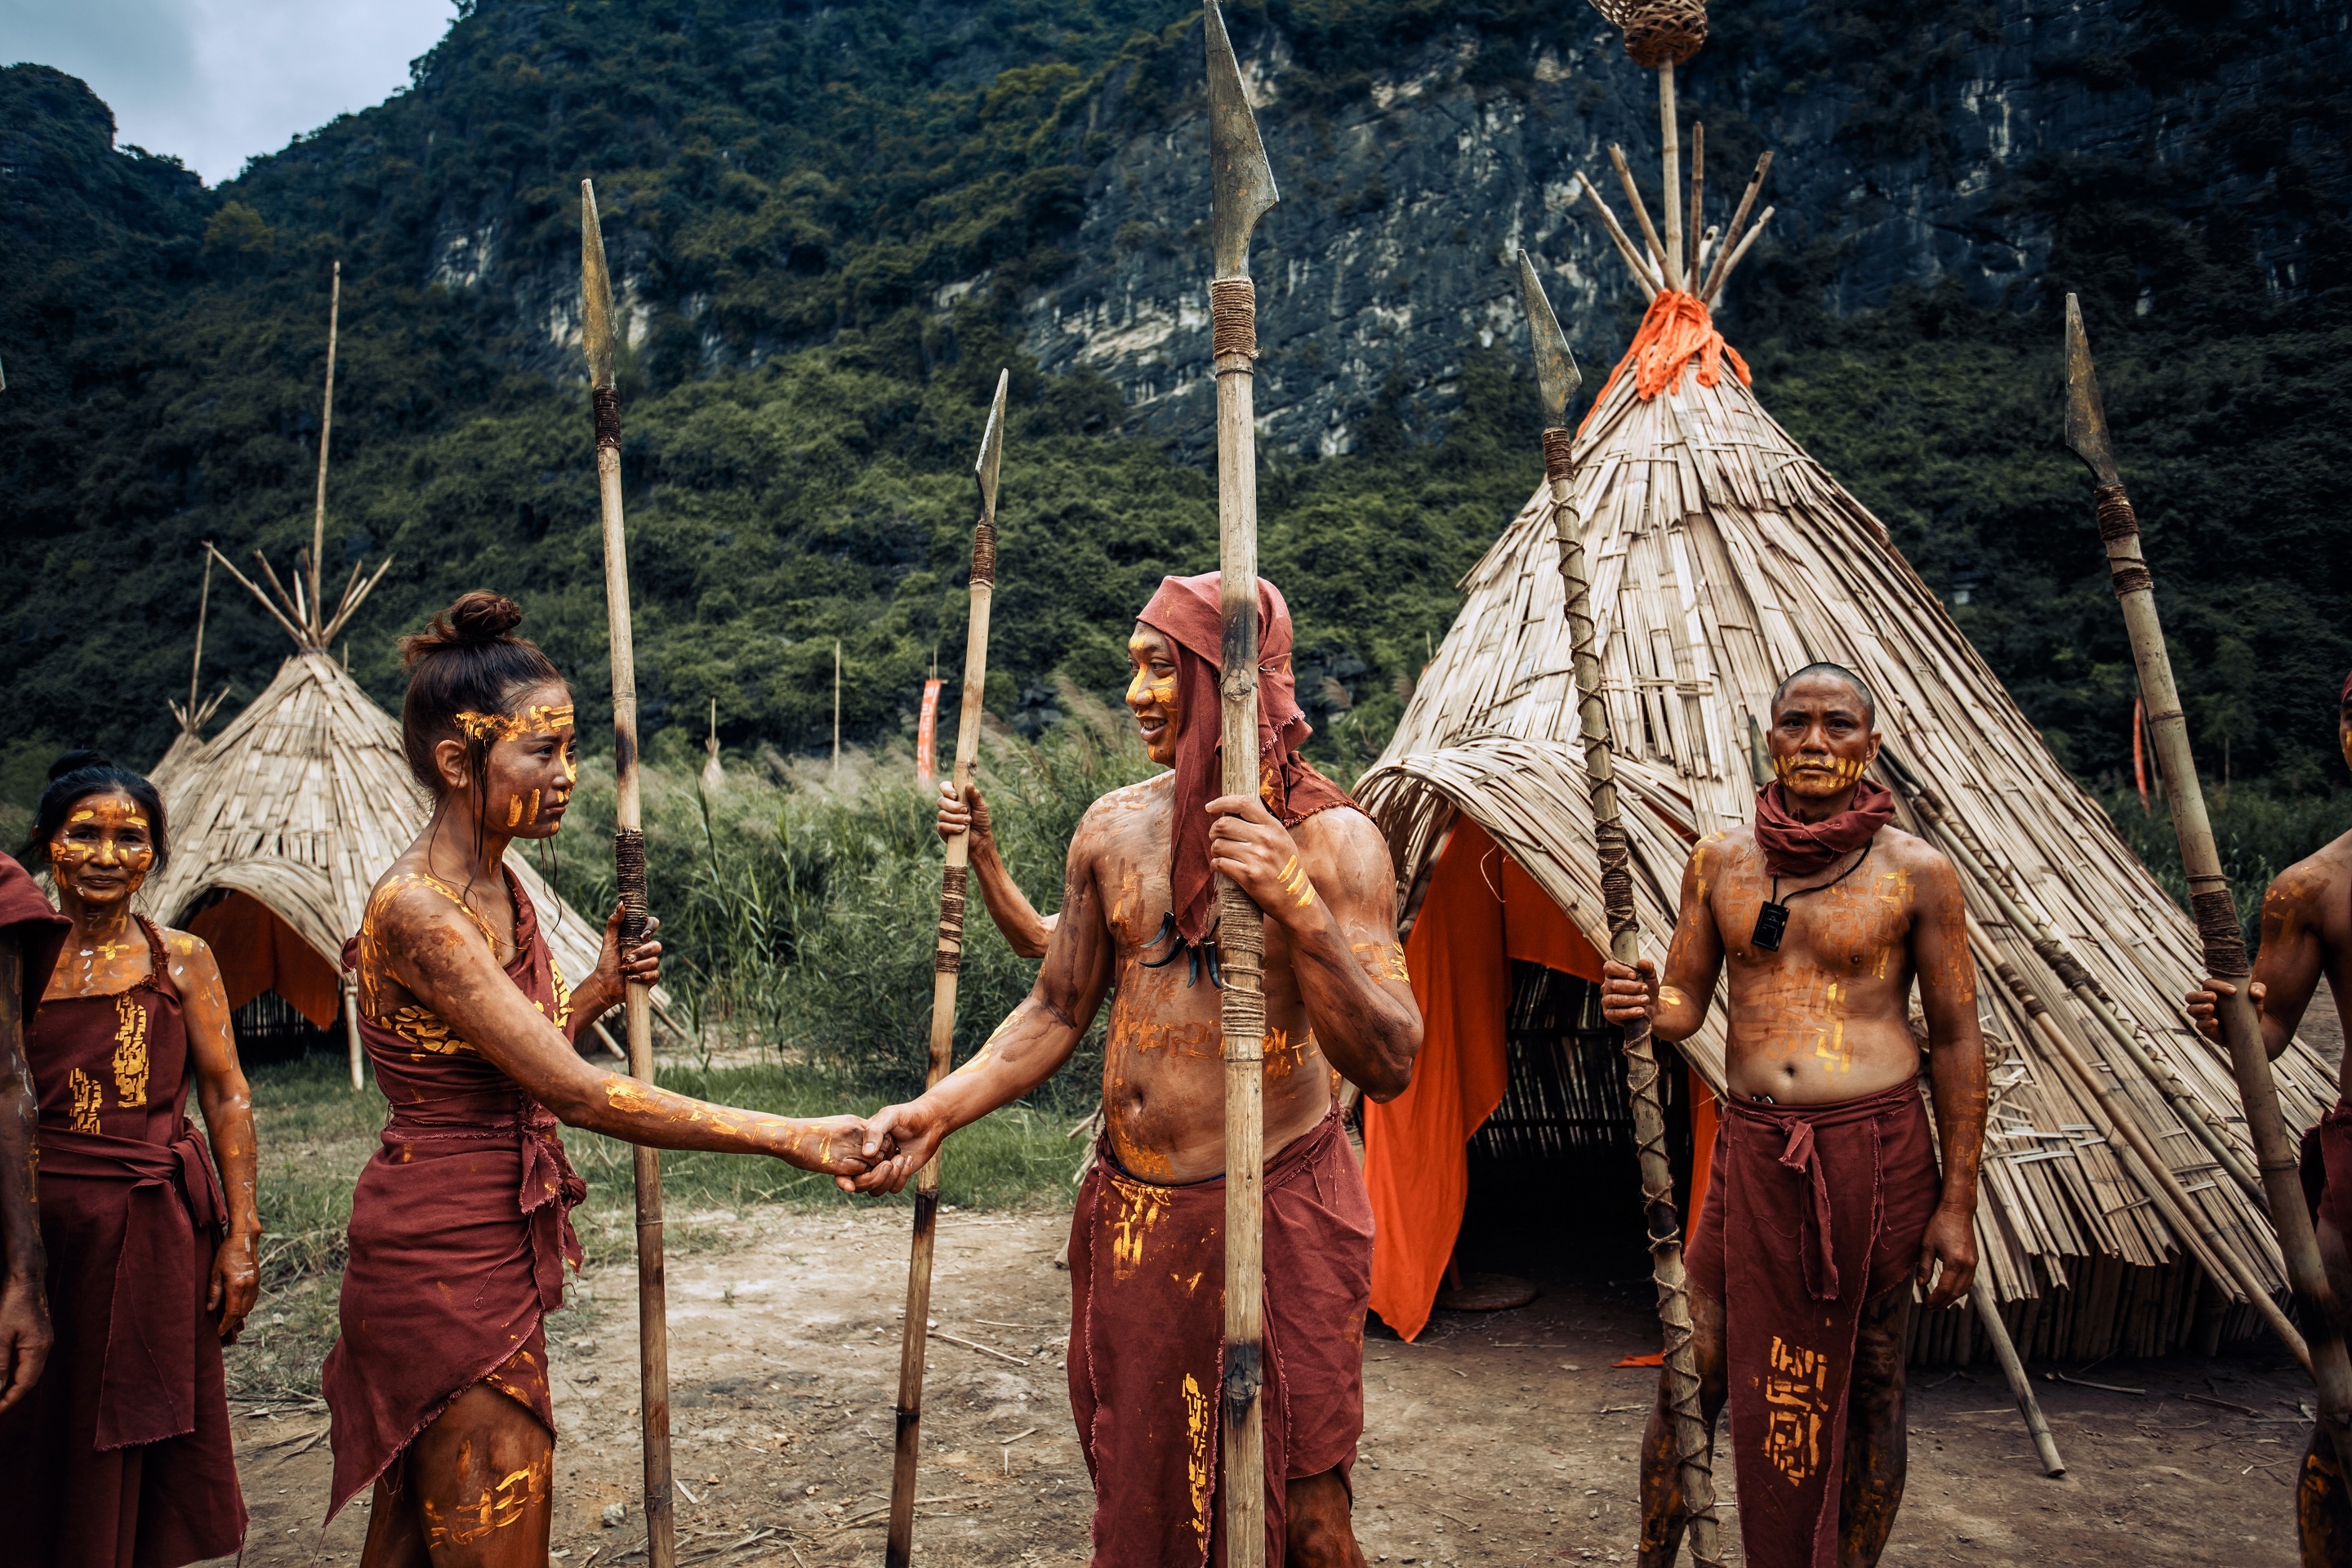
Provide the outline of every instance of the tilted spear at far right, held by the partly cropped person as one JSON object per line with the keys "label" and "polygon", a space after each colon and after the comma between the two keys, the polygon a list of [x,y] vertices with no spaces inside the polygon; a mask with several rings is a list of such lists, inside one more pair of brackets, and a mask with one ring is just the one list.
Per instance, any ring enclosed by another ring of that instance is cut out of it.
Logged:
{"label": "tilted spear at far right, held by the partly cropped person", "polygon": [[2206,973],[2230,983],[2218,997],[2223,1044],[2237,1074],[2239,1103],[2246,1110],[2246,1133],[2253,1140],[2263,1190],[2270,1194],[2270,1222],[2279,1232],[2286,1279],[2312,1312],[2310,1349],[2312,1382],[2319,1389],[2319,1427],[2336,1443],[2336,1458],[2352,1469],[2352,1359],[2338,1312],[2343,1302],[2328,1286],[2319,1262],[2319,1237],[2305,1208],[2303,1178],[2296,1168],[2296,1145],[2279,1114],[2279,1091],[2270,1079],[2270,1053],[2263,1048],[2263,1020],[2253,1011],[2253,966],[2246,961],[2246,936],[2237,922],[2237,898],[2220,870],[2213,846],[2213,823],[2204,809],[2204,785],[2197,783],[2197,759],[2190,752],[2190,724],[2180,712],[2180,689],[2173,684],[2173,658],[2157,618],[2157,583],[2140,555],[2140,520],[2124,494],[2114,468],[2114,440],[2107,435],[2107,409],[2098,397],[2098,369],[2091,364],[2091,339],[2082,329],[2082,306],[2065,296],[2065,444],[2091,470],[2098,503],[2098,536],[2107,545],[2107,574],[2124,609],[2131,661],[2140,670],[2140,693],[2147,698],[2147,729],[2164,766],[2164,795],[2180,835],[2180,870],[2187,872],[2190,912],[2204,940]]}

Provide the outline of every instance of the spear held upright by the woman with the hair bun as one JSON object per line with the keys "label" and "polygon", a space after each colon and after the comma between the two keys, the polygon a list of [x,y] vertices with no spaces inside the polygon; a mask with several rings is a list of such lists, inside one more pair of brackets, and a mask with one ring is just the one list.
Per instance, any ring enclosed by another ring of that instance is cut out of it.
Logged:
{"label": "spear held upright by the woman with the hair bun", "polygon": [[[621,884],[621,950],[644,940],[644,823],[637,795],[637,654],[628,621],[628,534],[621,527],[621,393],[612,378],[612,273],[595,183],[581,181],[581,339],[595,404],[595,484],[604,505],[604,616],[612,628],[612,863]],[[654,1016],[635,980],[621,994],[628,1070],[654,1081]],[[637,1178],[637,1410],[644,1434],[644,1549],[652,1568],[675,1568],[677,1519],[670,1497],[670,1319],[661,1262],[661,1154],[633,1145]]]}

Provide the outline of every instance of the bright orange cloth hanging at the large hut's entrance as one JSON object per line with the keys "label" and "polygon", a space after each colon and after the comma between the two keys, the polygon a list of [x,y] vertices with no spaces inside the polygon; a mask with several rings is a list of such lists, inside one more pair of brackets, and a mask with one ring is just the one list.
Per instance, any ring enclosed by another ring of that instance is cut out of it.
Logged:
{"label": "bright orange cloth hanging at the large hut's entrance", "polygon": [[1477,823],[1458,818],[1404,940],[1421,1004],[1414,1084],[1388,1105],[1364,1105],[1371,1309],[1406,1340],[1428,1326],[1461,1234],[1470,1135],[1503,1103],[1512,959],[1602,978],[1602,954],[1559,905]]}

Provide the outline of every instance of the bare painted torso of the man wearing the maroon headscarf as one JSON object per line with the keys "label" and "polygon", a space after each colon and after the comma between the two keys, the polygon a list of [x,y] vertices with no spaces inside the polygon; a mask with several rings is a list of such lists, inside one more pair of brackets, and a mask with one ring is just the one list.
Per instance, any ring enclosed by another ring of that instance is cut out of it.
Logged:
{"label": "bare painted torso of the man wearing the maroon headscarf", "polygon": [[[1192,978],[1174,929],[1169,818],[1176,776],[1162,773],[1094,804],[1080,827],[1094,903],[1112,940],[1110,1041],[1103,1051],[1103,1114],[1120,1164],[1148,1182],[1181,1185],[1225,1168],[1223,992],[1207,964]],[[1317,879],[1334,851],[1329,811],[1291,830]],[[1155,959],[1174,961],[1150,966]],[[1402,961],[1402,959],[1399,959]],[[1291,973],[1289,940],[1265,922],[1265,1157],[1315,1128],[1338,1072],[1324,1060]]]}

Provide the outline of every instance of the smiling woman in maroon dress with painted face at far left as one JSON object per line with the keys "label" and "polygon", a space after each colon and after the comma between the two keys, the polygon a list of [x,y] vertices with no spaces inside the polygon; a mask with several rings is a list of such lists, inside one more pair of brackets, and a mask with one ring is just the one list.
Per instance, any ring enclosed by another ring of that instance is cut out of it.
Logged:
{"label": "smiling woman in maroon dress with painted face at far left", "polygon": [[254,1105],[212,950],[132,910],[165,827],[155,785],[71,752],[26,846],[73,924],[24,1030],[56,1342],[0,1413],[7,1561],[176,1568],[245,1540],[221,1347],[261,1284]]}

